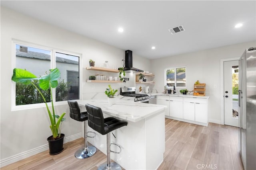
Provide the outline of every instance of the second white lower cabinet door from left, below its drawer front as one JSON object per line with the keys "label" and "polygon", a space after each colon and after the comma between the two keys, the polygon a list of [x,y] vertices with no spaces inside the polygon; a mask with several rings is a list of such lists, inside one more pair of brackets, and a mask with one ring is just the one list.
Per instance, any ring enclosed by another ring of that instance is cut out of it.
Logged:
{"label": "second white lower cabinet door from left, below its drawer front", "polygon": [[170,116],[183,119],[183,102],[170,100]]}

